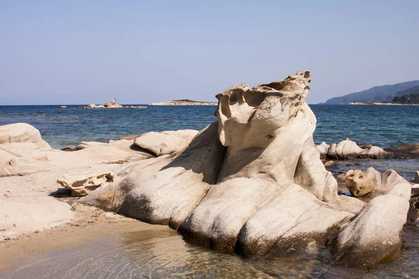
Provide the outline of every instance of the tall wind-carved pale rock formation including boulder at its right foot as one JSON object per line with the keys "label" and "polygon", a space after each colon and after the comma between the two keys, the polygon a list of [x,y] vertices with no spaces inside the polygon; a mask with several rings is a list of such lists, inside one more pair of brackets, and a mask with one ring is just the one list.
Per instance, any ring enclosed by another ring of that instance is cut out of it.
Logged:
{"label": "tall wind-carved pale rock formation including boulder at its right foot", "polygon": [[[337,195],[312,138],[316,117],[305,103],[310,81],[303,71],[219,93],[218,122],[184,151],[128,167],[122,179],[80,202],[170,225],[190,241],[244,255],[328,244],[346,264],[397,257],[411,186],[393,171],[370,170],[376,184],[368,203]],[[326,147],[339,157],[361,152],[349,141]]]}

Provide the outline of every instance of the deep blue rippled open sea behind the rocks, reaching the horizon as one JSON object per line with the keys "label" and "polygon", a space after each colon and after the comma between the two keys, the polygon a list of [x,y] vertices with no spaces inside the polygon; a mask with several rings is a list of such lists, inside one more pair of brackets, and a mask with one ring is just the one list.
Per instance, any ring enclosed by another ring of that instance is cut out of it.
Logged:
{"label": "deep blue rippled open sea behind the rocks, reaching the horizon", "polygon": [[[215,106],[150,106],[145,110],[80,110],[57,105],[0,106],[0,125],[29,123],[55,148],[80,141],[108,142],[149,131],[196,129],[212,121]],[[419,106],[310,105],[317,117],[316,142],[388,147],[419,142]]]}

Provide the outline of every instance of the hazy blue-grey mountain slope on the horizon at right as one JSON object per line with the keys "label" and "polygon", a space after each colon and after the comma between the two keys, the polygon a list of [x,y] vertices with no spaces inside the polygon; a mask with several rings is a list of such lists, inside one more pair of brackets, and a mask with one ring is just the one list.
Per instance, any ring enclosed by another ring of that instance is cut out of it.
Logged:
{"label": "hazy blue-grey mountain slope on the horizon at right", "polygon": [[350,93],[345,96],[327,100],[326,105],[344,105],[356,102],[391,102],[395,96],[417,93],[419,80],[402,82],[392,85],[374,86],[365,91]]}

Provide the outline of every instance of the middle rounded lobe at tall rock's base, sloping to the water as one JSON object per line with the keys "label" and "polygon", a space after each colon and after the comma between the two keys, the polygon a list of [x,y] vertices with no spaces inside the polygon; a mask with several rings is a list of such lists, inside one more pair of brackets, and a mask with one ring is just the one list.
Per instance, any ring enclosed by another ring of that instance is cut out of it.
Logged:
{"label": "middle rounded lobe at tall rock's base, sloping to the water", "polygon": [[278,189],[274,181],[264,179],[235,178],[221,182],[208,191],[179,232],[205,246],[231,250],[244,223]]}

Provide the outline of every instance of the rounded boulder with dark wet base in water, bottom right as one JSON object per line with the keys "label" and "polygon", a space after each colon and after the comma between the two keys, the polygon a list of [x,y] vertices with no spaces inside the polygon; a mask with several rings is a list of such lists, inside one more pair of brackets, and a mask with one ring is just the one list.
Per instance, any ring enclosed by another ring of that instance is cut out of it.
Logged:
{"label": "rounded boulder with dark wet base in water, bottom right", "polygon": [[352,266],[373,266],[396,259],[408,211],[409,200],[404,197],[375,197],[332,243],[335,259]]}

